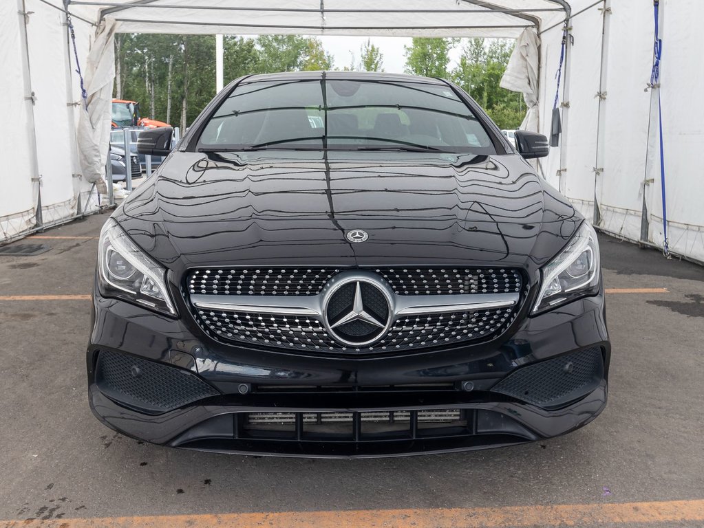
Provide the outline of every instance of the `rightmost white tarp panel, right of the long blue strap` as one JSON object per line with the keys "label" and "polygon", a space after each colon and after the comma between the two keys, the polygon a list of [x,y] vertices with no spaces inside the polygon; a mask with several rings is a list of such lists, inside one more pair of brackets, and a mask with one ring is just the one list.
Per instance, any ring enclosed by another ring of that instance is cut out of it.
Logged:
{"label": "rightmost white tarp panel, right of the long blue strap", "polygon": [[[665,1],[661,6],[663,39],[660,83],[665,171],[667,181],[667,236],[670,250],[704,261],[704,67],[700,53],[700,0]],[[652,27],[650,22],[650,27]],[[676,28],[676,29],[673,29]],[[647,72],[646,72],[647,73]],[[641,86],[648,81],[643,75]],[[637,86],[641,88],[641,86]],[[642,88],[641,88],[642,89]],[[656,96],[657,94],[653,94]],[[653,99],[653,108],[655,107]],[[662,196],[660,193],[660,144],[657,114],[650,120],[650,152],[646,186],[649,240],[662,246]]]}

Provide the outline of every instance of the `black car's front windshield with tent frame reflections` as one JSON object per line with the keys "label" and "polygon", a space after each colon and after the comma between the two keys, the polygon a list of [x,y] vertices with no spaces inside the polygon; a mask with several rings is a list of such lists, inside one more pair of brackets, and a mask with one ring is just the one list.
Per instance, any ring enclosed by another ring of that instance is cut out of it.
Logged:
{"label": "black car's front windshield with tent frame reflections", "polygon": [[199,148],[496,153],[449,86],[337,79],[242,84],[210,118]]}

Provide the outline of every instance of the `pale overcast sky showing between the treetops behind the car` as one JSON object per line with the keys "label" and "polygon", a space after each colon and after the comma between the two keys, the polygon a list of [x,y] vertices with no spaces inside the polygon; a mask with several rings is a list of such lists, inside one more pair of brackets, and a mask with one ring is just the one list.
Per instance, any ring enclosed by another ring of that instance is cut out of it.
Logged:
{"label": "pale overcast sky showing between the treetops behind the car", "polygon": [[[410,46],[410,37],[319,37],[325,51],[332,53],[334,57],[334,67],[342,69],[350,65],[352,53],[354,60],[359,62],[360,48],[367,41],[372,40],[372,44],[377,46],[384,56],[384,70],[389,73],[403,73],[406,65],[406,56],[403,46]],[[460,56],[460,46],[450,52],[450,69],[457,63]]]}

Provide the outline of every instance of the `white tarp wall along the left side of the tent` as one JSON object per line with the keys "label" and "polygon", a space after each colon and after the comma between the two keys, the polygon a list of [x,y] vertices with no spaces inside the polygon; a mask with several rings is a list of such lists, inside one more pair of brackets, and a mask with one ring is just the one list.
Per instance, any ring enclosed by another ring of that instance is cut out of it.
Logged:
{"label": "white tarp wall along the left side of the tent", "polygon": [[[0,2],[0,243],[97,208],[77,160],[80,88],[65,22],[61,0]],[[85,60],[94,27],[73,23]]]}

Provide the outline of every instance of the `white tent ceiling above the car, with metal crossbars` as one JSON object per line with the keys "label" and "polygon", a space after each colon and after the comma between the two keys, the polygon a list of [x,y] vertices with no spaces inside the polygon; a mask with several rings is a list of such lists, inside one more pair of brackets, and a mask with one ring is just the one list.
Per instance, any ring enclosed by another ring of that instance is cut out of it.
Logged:
{"label": "white tent ceiling above the car, with metal crossbars", "polygon": [[517,37],[570,14],[565,0],[69,0],[122,33]]}

